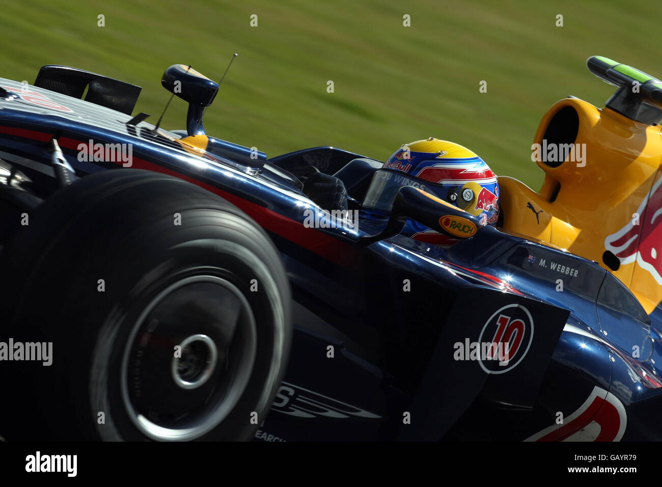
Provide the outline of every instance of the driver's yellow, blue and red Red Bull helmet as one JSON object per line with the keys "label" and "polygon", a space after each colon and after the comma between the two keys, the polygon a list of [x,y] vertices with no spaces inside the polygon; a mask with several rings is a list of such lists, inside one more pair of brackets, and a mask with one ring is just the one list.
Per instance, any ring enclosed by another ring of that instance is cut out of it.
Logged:
{"label": "driver's yellow, blue and red Red Bull helmet", "polygon": [[[481,225],[496,225],[498,221],[496,174],[477,154],[455,142],[430,137],[402,144],[375,172],[363,207],[390,213],[402,186],[432,193],[478,217]],[[444,246],[457,242],[411,219],[402,235]]]}

